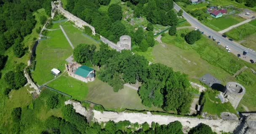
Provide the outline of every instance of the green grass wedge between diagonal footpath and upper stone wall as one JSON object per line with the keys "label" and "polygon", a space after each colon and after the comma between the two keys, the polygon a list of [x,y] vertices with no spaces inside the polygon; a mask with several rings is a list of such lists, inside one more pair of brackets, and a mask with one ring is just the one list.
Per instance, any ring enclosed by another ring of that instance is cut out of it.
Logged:
{"label": "green grass wedge between diagonal footpath and upper stone wall", "polygon": [[74,47],[76,47],[79,44],[94,44],[97,46],[97,48],[99,48],[100,43],[85,36],[80,29],[75,28],[74,26],[72,26],[72,24],[65,23],[62,27],[64,31],[67,33],[67,36],[69,37]]}

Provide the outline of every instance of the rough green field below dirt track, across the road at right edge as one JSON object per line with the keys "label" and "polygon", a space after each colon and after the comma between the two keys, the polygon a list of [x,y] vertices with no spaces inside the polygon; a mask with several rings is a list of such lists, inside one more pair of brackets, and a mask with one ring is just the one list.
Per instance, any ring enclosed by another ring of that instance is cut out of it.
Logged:
{"label": "rough green field below dirt track, across the road at right edge", "polygon": [[245,23],[241,26],[233,28],[232,30],[224,33],[225,35],[231,37],[232,39],[239,41],[245,39],[247,36],[256,33],[256,26],[250,23]]}

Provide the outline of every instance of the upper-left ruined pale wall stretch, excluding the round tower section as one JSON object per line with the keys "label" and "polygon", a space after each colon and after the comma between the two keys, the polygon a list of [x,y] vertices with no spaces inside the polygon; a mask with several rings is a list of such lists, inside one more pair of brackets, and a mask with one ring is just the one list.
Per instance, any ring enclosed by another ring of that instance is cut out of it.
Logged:
{"label": "upper-left ruined pale wall stretch, excluding the round tower section", "polygon": [[[93,35],[95,35],[95,29],[93,26],[89,25],[88,23],[86,23],[85,21],[83,21],[82,19],[78,18],[75,15],[72,15],[71,13],[69,13],[67,10],[64,10],[62,8],[62,3],[60,0],[55,1],[54,3],[59,3],[58,5],[56,5],[56,10],[58,13],[64,15],[66,18],[68,18],[70,21],[74,22],[76,26],[78,26],[79,28],[84,28],[84,26],[88,26],[89,28],[91,28],[91,31],[93,33]],[[53,3],[53,4],[54,4]],[[53,7],[53,6],[52,6]]]}

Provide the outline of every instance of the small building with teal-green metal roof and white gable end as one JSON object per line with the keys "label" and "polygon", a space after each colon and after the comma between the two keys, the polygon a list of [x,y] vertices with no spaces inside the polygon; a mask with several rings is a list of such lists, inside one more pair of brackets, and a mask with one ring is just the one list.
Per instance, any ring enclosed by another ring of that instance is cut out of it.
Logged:
{"label": "small building with teal-green metal roof and white gable end", "polygon": [[93,71],[92,68],[87,67],[85,65],[82,65],[81,67],[78,67],[77,70],[75,71],[76,75],[82,76],[82,77],[88,77],[88,78],[92,78],[94,77],[94,73],[90,73],[91,71]]}

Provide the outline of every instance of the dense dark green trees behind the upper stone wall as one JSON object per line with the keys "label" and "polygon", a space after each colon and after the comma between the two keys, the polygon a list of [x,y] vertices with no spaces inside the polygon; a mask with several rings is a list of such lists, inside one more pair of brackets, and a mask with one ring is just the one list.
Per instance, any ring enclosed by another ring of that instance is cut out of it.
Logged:
{"label": "dense dark green trees behind the upper stone wall", "polygon": [[[143,31],[141,27],[137,31],[128,31],[121,22],[123,14],[120,5],[112,4],[107,12],[99,11],[101,5],[108,5],[110,0],[68,0],[66,9],[90,23],[101,36],[117,42],[120,36],[129,35],[132,45],[140,46],[141,51],[147,51],[149,46],[154,46],[154,34],[151,24],[163,26],[177,25],[178,18],[174,12],[173,0],[122,0],[127,1],[134,12],[134,17],[145,16],[149,23],[148,31]],[[151,28],[150,28],[151,25]]]}

